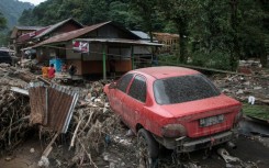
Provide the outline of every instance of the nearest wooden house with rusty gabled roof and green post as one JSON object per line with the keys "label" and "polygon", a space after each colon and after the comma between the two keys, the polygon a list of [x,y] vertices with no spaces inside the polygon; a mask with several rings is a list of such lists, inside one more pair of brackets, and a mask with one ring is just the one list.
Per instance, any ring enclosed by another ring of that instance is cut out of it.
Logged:
{"label": "nearest wooden house with rusty gabled roof and green post", "polygon": [[[78,45],[75,46],[74,45]],[[53,36],[34,47],[38,59],[58,58],[77,67],[77,75],[93,76],[111,71],[123,74],[134,68],[134,46],[161,46],[113,22],[103,22]],[[51,49],[44,54],[44,48]]]}

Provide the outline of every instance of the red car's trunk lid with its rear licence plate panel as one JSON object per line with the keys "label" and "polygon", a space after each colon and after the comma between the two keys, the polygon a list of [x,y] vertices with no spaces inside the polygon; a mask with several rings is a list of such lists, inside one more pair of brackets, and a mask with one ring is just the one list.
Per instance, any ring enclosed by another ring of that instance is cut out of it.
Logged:
{"label": "red car's trunk lid with its rear licence plate panel", "polygon": [[162,105],[176,122],[184,125],[189,137],[201,137],[231,130],[240,103],[224,94],[203,100]]}

